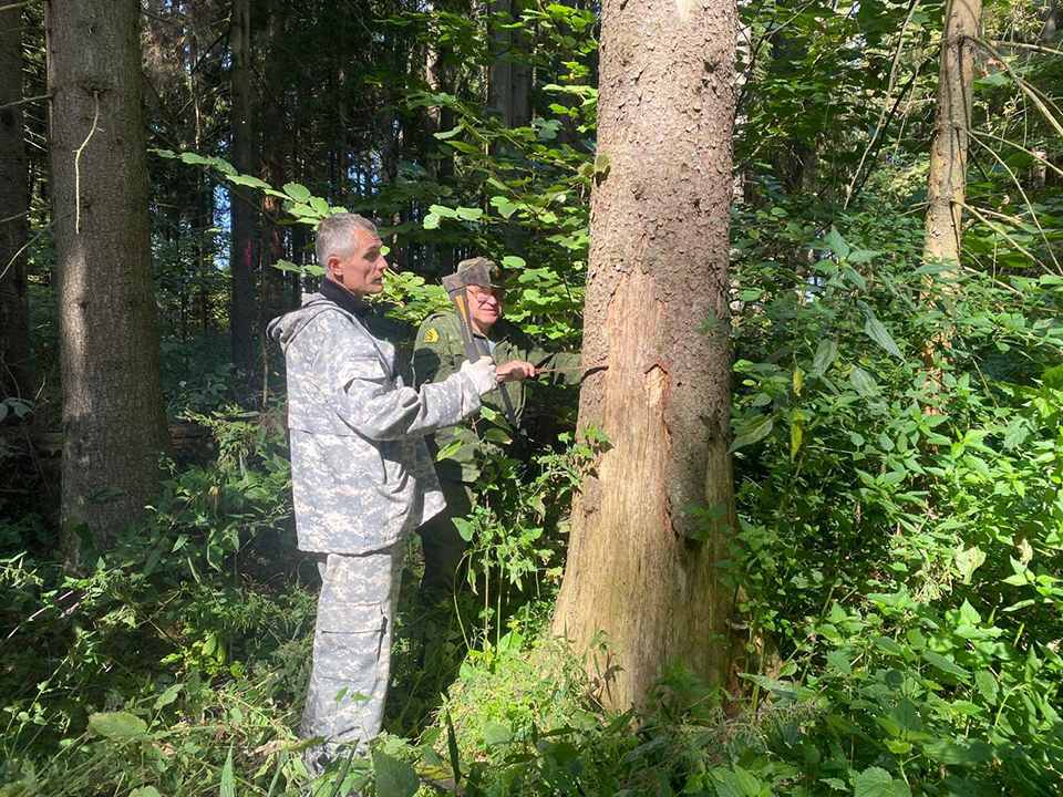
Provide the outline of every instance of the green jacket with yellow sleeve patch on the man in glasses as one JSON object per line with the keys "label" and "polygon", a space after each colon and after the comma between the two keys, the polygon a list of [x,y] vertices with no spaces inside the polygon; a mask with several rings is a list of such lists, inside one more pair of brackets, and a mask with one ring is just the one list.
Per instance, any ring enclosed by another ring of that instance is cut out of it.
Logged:
{"label": "green jacket with yellow sleeve patch on the man in glasses", "polygon": [[[496,321],[491,328],[489,340],[495,344],[492,359],[498,364],[510,360],[525,360],[537,369],[570,368],[580,364],[579,353],[544,351],[505,319]],[[413,344],[414,385],[420,387],[425,382],[445,380],[462,366],[465,359],[465,346],[462,343],[457,315],[455,313],[430,315],[417,330],[417,338]],[[551,377],[556,377],[551,380],[553,382],[564,384],[579,384],[580,375],[579,371],[550,374]],[[526,382],[506,383],[506,392],[513,403],[513,413],[518,427],[524,416],[526,390]],[[484,396],[483,401],[484,406],[505,416],[505,403],[500,391],[492,391]],[[435,469],[440,478],[465,483],[476,480],[479,475],[476,453],[486,445],[479,435],[489,427],[489,424],[479,418],[475,424],[440,429],[427,438],[433,457],[457,439],[463,443],[457,453],[436,463]]]}

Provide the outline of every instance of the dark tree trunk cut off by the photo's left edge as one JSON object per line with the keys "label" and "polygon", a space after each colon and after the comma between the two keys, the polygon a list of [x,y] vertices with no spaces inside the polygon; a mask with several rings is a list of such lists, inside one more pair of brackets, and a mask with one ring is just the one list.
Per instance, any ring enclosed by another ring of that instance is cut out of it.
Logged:
{"label": "dark tree trunk cut off by the photo's left edge", "polygon": [[[0,11],[0,398],[29,398],[29,208],[22,128],[22,11]],[[8,106],[8,107],[3,107]]]}

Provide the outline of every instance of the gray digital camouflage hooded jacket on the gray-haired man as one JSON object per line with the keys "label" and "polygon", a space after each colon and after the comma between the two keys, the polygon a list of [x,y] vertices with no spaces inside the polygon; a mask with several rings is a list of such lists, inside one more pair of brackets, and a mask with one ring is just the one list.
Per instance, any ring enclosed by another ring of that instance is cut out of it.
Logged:
{"label": "gray digital camouflage hooded jacket on the gray-haired man", "polygon": [[269,324],[288,366],[288,429],[299,548],[364,553],[443,509],[423,435],[481,406],[462,373],[420,391],[395,372],[395,346],[313,293]]}

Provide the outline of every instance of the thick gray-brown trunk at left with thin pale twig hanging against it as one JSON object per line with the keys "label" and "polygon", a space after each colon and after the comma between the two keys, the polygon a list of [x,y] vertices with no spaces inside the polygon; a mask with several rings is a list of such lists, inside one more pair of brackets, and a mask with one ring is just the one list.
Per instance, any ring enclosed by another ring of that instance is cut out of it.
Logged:
{"label": "thick gray-brown trunk at left with thin pale twig hanging against it", "polygon": [[144,515],[169,446],[151,271],[138,4],[47,4],[68,555]]}

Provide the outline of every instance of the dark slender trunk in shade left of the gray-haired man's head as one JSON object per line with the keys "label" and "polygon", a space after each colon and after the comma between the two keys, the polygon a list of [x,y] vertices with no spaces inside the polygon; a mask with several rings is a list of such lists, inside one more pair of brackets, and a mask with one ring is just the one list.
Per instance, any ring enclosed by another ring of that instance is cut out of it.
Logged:
{"label": "dark slender trunk in shade left of the gray-haired man's head", "polygon": [[[255,174],[251,141],[250,0],[233,1],[229,25],[233,56],[233,165],[240,174]],[[230,224],[229,268],[233,298],[229,304],[229,331],[233,335],[233,365],[247,375],[255,366],[255,205],[239,186],[229,188]]]}

